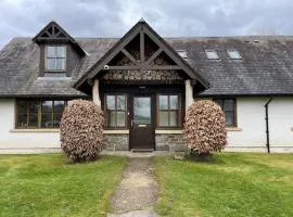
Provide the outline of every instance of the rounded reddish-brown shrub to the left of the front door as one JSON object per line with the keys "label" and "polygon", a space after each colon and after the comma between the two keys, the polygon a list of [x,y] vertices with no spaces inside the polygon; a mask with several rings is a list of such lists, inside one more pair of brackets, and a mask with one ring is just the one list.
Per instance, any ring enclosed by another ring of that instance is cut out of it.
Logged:
{"label": "rounded reddish-brown shrub to the left of the front door", "polygon": [[61,148],[73,163],[93,161],[102,150],[104,117],[93,102],[73,100],[60,126]]}

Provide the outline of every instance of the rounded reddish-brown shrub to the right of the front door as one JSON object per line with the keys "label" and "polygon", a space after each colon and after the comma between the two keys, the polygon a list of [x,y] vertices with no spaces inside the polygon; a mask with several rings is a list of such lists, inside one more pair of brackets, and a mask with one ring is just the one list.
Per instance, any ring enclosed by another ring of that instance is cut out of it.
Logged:
{"label": "rounded reddish-brown shrub to the right of the front door", "polygon": [[209,100],[193,102],[184,124],[184,141],[191,153],[220,152],[227,144],[226,137],[226,120],[220,106]]}

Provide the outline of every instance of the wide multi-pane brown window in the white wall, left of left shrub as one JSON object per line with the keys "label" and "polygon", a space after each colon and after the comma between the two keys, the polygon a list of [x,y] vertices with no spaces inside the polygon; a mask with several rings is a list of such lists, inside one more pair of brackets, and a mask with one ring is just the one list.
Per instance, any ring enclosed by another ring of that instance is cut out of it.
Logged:
{"label": "wide multi-pane brown window in the white wall, left of left shrub", "polygon": [[16,128],[59,128],[66,101],[16,101]]}

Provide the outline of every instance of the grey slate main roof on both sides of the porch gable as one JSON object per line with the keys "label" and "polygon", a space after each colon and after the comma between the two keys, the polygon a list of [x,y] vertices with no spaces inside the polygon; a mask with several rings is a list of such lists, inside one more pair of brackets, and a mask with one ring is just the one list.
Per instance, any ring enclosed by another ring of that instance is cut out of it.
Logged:
{"label": "grey slate main roof on both sides of the porch gable", "polygon": [[[85,97],[72,86],[118,39],[75,38],[88,53],[72,78],[39,78],[39,47],[31,38],[14,38],[0,51],[0,97]],[[186,50],[189,63],[209,81],[201,95],[293,95],[293,37],[166,38],[175,50]],[[220,60],[207,60],[205,50]],[[230,60],[235,49],[243,60]]]}

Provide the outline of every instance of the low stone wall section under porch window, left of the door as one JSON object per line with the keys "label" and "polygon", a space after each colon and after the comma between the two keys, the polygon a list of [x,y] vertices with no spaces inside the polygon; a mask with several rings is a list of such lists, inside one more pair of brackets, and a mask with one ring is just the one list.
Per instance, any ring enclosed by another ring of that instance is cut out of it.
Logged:
{"label": "low stone wall section under porch window, left of the door", "polygon": [[129,135],[105,135],[104,150],[106,151],[128,151]]}

